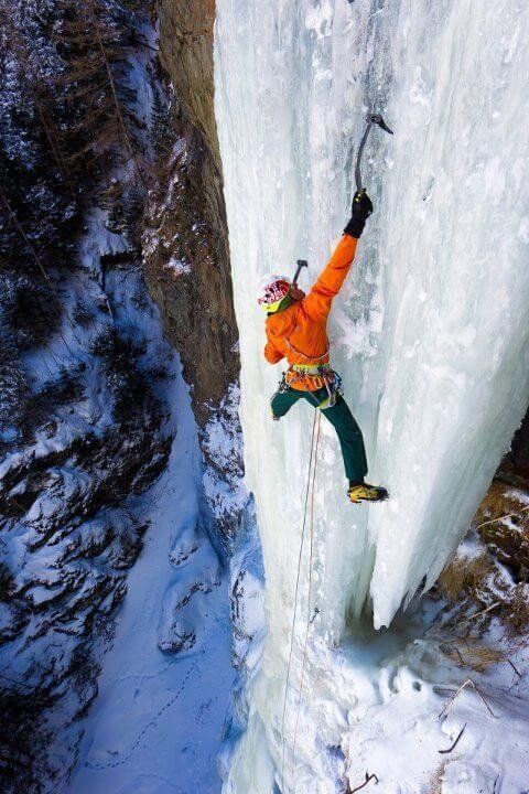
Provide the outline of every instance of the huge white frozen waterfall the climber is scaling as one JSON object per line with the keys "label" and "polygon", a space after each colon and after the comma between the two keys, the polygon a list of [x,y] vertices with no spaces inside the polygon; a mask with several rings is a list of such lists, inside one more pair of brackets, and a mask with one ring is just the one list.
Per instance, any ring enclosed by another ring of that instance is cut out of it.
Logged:
{"label": "huge white frozen waterfall the climber is scaling", "polygon": [[382,112],[395,136],[375,129],[366,150],[375,214],[330,332],[369,479],[392,497],[371,508],[347,503],[337,441],[322,419],[299,661],[315,607],[313,632],[331,646],[366,601],[375,625],[389,625],[434,581],[527,408],[528,40],[521,0],[217,1],[241,420],[269,624],[246,750],[253,783],[239,780],[234,791],[269,791],[255,769],[266,763],[263,737],[271,747],[281,728],[312,426],[307,405],[269,419],[280,367],[262,357],[259,277],[293,271],[299,257],[310,262],[302,286],[316,277],[348,216],[365,114]]}

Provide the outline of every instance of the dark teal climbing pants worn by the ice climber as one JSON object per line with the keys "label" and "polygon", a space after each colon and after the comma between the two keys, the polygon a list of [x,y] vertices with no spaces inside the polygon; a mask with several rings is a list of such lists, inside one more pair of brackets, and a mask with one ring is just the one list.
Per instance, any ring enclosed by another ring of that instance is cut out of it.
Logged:
{"label": "dark teal climbing pants worn by the ice climber", "polygon": [[[325,388],[316,391],[302,391],[289,386],[284,391],[277,391],[272,397],[272,416],[274,419],[283,417],[299,399],[306,399],[314,408],[327,398]],[[345,474],[349,482],[361,482],[367,474],[366,450],[361,430],[355,421],[347,403],[342,395],[336,396],[336,404],[323,408],[322,414],[333,425],[338,436],[342,455],[344,458]]]}

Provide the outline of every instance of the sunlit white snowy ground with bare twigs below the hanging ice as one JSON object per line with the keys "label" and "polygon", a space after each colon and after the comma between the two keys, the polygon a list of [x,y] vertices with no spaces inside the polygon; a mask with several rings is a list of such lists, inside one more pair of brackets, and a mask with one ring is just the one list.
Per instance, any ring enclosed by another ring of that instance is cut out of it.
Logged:
{"label": "sunlit white snowy ground with bare twigs below the hanging ice", "polygon": [[366,773],[378,794],[527,791],[529,652],[511,655],[521,677],[507,658],[484,674],[462,668],[441,651],[442,633],[428,633],[431,619],[430,605],[334,650],[311,637],[301,704],[296,676],[288,700],[295,749],[287,749],[284,791],[348,792]]}

